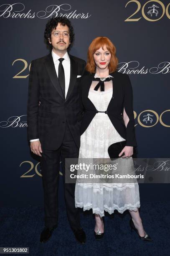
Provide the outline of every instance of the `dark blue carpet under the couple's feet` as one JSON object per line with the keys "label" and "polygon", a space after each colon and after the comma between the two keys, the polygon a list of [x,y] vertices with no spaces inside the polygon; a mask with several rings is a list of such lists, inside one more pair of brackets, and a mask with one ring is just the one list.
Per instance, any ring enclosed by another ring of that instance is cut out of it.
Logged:
{"label": "dark blue carpet under the couple's feet", "polygon": [[[43,207],[0,208],[0,247],[29,247],[30,256],[169,256],[170,255],[170,202],[145,202],[140,215],[147,233],[154,242],[141,241],[129,228],[130,215],[105,215],[105,235],[95,241],[94,218],[91,211],[81,214],[81,225],[86,232],[86,244],[76,242],[69,226],[65,206],[59,209],[58,228],[51,239],[41,244]],[[8,254],[9,255],[9,254]],[[18,255],[18,254],[11,254]]]}

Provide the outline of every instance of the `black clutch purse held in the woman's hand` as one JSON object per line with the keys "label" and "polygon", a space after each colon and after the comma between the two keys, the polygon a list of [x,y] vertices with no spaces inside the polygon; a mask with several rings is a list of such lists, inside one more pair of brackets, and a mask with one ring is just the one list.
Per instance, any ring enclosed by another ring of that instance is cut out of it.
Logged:
{"label": "black clutch purse held in the woman's hand", "polygon": [[[124,153],[122,154],[122,156],[119,156],[119,154],[125,146],[126,146],[126,141],[120,141],[110,145],[108,148],[109,157],[112,159],[112,158],[119,158],[124,156]],[[135,154],[137,153],[137,149],[135,147],[133,148],[133,154],[134,153]]]}

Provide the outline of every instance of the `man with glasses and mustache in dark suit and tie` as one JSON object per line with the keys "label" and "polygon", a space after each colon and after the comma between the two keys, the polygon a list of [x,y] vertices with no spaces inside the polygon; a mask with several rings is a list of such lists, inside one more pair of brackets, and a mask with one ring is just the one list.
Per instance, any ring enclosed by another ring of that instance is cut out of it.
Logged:
{"label": "man with glasses and mustache in dark suit and tie", "polygon": [[86,62],[68,54],[74,31],[67,18],[51,18],[44,37],[52,51],[31,62],[27,111],[30,149],[41,156],[45,228],[40,241],[48,241],[57,227],[61,157],[67,216],[76,239],[85,243],[86,235],[80,225],[79,210],[75,207],[75,184],[65,183],[65,159],[79,156],[79,83]]}

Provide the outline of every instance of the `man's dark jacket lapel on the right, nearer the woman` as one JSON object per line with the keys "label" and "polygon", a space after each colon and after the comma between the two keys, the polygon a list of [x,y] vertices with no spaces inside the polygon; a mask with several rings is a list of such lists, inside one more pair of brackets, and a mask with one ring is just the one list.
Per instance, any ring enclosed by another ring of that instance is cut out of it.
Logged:
{"label": "man's dark jacket lapel on the right, nearer the woman", "polygon": [[74,85],[76,84],[77,74],[78,74],[78,66],[76,61],[73,59],[71,55],[69,55],[70,58],[70,83],[69,83],[69,90],[66,95],[66,101],[68,100],[69,96],[71,95],[71,92],[74,88]]}

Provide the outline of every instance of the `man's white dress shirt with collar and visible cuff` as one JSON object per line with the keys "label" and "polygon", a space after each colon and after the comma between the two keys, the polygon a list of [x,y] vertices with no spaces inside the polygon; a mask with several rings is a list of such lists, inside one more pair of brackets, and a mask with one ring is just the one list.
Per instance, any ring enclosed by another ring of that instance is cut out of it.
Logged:
{"label": "man's white dress shirt with collar and visible cuff", "polygon": [[[52,57],[53,57],[53,62],[54,62],[54,66],[55,66],[55,69],[56,69],[56,74],[57,74],[57,77],[58,77],[58,66],[59,66],[59,63],[60,63],[60,61],[58,59],[60,59],[61,57],[58,56],[55,52],[53,52],[53,50],[52,50],[51,54],[52,54]],[[70,83],[70,58],[69,58],[68,52],[66,52],[62,58],[64,59],[62,61],[62,64],[63,64],[64,75],[65,75],[65,97],[66,97],[67,92],[69,90],[69,83]],[[32,141],[39,141],[39,139],[30,140],[30,142],[32,142]]]}

